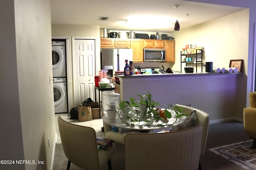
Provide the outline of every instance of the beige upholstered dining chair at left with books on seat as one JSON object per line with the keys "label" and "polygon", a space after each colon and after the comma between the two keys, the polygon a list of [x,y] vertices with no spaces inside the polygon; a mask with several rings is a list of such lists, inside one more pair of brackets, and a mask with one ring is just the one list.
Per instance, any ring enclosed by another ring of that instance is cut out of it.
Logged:
{"label": "beige upholstered dining chair at left with books on seat", "polygon": [[62,147],[68,158],[67,170],[71,162],[86,170],[101,170],[108,164],[111,170],[110,158],[116,152],[114,143],[106,151],[98,149],[93,128],[69,123],[61,115],[58,117],[58,126]]}

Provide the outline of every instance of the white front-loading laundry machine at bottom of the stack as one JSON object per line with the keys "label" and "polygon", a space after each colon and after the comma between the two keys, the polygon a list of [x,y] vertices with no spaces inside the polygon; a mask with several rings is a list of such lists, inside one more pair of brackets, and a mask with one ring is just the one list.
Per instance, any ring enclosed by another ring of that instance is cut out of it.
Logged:
{"label": "white front-loading laundry machine at bottom of the stack", "polygon": [[66,78],[53,78],[54,112],[67,113],[67,88]]}

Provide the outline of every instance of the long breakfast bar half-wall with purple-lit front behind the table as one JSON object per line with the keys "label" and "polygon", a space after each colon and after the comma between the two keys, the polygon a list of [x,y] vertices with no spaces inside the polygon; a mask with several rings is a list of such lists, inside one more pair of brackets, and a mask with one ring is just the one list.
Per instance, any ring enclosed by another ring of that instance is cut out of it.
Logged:
{"label": "long breakfast bar half-wall with purple-lit front behind the table", "polygon": [[152,100],[163,107],[191,105],[208,113],[210,120],[218,121],[241,114],[242,75],[242,72],[117,75],[120,84],[116,84],[116,92],[120,93],[121,101],[129,101],[130,97],[139,100],[138,94],[150,92]]}

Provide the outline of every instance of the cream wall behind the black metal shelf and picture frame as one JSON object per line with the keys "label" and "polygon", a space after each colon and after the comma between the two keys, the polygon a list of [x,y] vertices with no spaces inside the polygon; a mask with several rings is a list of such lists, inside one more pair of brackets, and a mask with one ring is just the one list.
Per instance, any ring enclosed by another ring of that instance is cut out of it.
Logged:
{"label": "cream wall behind the black metal shelf and picture frame", "polygon": [[[182,25],[181,25],[182,26]],[[229,67],[230,59],[243,59],[242,72],[248,66],[249,9],[173,33],[176,40],[176,63],[180,70],[180,51],[192,44],[204,47],[205,61],[217,67]]]}

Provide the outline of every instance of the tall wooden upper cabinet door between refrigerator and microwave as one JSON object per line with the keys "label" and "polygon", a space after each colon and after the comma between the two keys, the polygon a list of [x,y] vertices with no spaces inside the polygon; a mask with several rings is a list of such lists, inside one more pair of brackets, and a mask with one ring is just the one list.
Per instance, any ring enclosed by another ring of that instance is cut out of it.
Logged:
{"label": "tall wooden upper cabinet door between refrigerator and microwave", "polygon": [[143,39],[130,39],[130,49],[132,49],[134,63],[143,63],[143,47]]}

